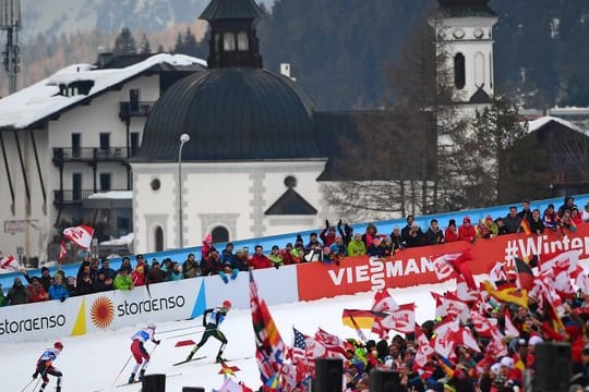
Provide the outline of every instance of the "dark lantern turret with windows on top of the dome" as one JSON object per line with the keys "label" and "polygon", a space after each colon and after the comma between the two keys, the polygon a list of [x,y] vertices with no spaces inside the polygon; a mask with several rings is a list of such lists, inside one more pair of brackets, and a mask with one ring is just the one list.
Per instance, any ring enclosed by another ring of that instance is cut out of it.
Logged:
{"label": "dark lantern turret with windows on top of the dome", "polygon": [[211,24],[208,68],[262,68],[255,25],[265,16],[254,0],[211,0],[199,16]]}

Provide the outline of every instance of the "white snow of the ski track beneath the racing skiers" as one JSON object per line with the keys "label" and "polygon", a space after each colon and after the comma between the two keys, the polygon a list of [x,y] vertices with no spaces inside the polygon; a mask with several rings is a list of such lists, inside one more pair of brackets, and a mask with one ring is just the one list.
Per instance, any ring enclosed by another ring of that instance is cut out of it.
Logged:
{"label": "white snow of the ski track beneath the racing skiers", "polygon": [[[450,281],[454,282],[454,281]],[[399,304],[414,302],[417,305],[416,317],[418,322],[433,318],[434,301],[430,291],[442,293],[454,290],[455,284],[419,286],[402,290],[389,290]],[[342,326],[341,310],[370,309],[373,293],[345,295],[336,298],[272,306],[271,313],[280,331],[285,343],[292,343],[292,327],[305,334],[314,334],[318,327],[327,332],[341,338],[357,338],[356,331]],[[141,389],[140,384],[116,388],[115,384],[124,383],[132,368],[129,362],[121,376],[117,375],[130,357],[130,336],[136,329],[125,328],[110,332],[89,333],[83,336],[62,339],[64,345],[62,354],[55,366],[63,371],[63,392],[92,392],[92,391],[118,391],[135,392]],[[169,330],[181,329],[172,332]],[[206,391],[218,389],[224,383],[224,376],[218,375],[220,365],[214,364],[214,358],[219,347],[219,342],[211,339],[199,352],[207,358],[192,362],[181,366],[172,366],[182,360],[190,352],[191,346],[175,347],[176,343],[183,340],[197,340],[201,336],[201,318],[185,321],[164,322],[157,326],[156,338],[161,339],[161,344],[153,353],[147,373],[166,373],[166,391],[181,391],[182,387],[202,387]],[[226,358],[235,358],[230,366],[237,366],[241,370],[236,373],[236,381],[243,381],[248,387],[257,389],[261,384],[260,373],[253,358],[255,345],[251,313],[249,309],[235,309],[229,313],[221,326],[229,343],[225,351]],[[190,334],[189,334],[190,333]],[[185,334],[185,335],[184,335]],[[375,335],[369,338],[376,339]],[[2,377],[2,391],[21,391],[29,381],[35,371],[35,363],[44,348],[52,345],[52,341],[2,344],[0,345],[0,364],[3,364],[4,376]],[[147,350],[153,348],[152,343],[146,344]],[[55,378],[47,390],[52,391]],[[32,383],[26,391],[33,391]]]}

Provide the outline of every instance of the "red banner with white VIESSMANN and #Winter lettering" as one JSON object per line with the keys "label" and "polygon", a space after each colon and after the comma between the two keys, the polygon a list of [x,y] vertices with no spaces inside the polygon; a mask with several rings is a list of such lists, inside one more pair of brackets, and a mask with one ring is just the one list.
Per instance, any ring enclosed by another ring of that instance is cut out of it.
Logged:
{"label": "red banner with white VIESSMANN and #Winter lettering", "polygon": [[399,250],[382,260],[366,256],[348,257],[339,266],[305,262],[297,266],[299,301],[312,301],[341,294],[354,294],[384,287],[407,287],[437,282],[433,259],[447,253],[471,249],[470,270],[486,273],[497,261],[514,266],[515,257],[551,254],[558,249],[580,249],[580,259],[589,258],[589,224],[558,237],[546,231],[543,235],[508,234],[478,240],[474,244],[455,242]]}

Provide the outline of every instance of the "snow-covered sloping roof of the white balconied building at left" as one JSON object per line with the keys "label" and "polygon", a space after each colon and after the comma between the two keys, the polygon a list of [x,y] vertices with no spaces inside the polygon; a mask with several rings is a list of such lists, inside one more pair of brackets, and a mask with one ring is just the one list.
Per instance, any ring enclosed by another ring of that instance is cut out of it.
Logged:
{"label": "snow-covered sloping roof of the white balconied building at left", "polygon": [[[0,128],[25,128],[75,106],[85,99],[124,82],[152,66],[167,63],[172,66],[206,66],[206,61],[185,54],[154,54],[148,59],[121,69],[97,69],[92,64],[73,64],[32,86],[0,99]],[[60,95],[60,84],[76,81],[94,83],[87,95]]]}

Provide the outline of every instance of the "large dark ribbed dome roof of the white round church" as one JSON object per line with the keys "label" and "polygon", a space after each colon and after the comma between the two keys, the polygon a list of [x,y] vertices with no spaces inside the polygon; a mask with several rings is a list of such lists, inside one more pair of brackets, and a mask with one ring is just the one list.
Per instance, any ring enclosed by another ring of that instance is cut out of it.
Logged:
{"label": "large dark ribbed dome roof of the white round church", "polygon": [[288,77],[263,69],[197,72],[172,85],[155,105],[135,161],[321,158],[313,103]]}

